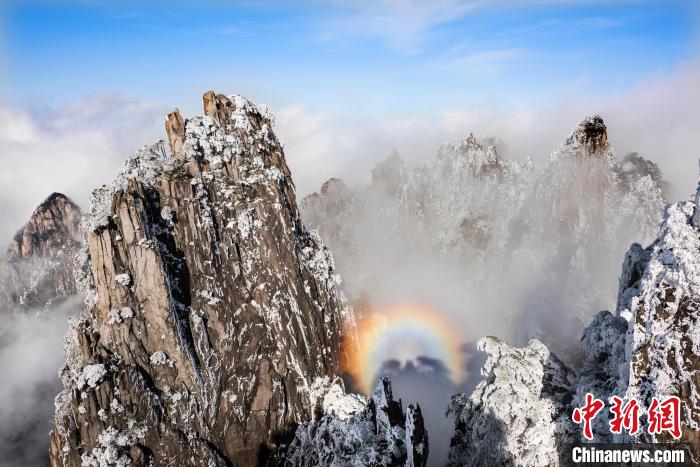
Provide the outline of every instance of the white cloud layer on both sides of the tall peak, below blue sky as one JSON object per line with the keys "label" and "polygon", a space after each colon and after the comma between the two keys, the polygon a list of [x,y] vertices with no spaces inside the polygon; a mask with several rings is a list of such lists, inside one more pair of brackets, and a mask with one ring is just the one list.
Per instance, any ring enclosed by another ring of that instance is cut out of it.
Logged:
{"label": "white cloud layer on both sides of the tall peak, below blue sky", "polygon": [[[394,149],[408,163],[431,159],[442,142],[469,132],[500,137],[509,157],[543,160],[581,117],[600,113],[617,153],[637,151],[658,162],[672,183],[675,199],[692,192],[697,180],[698,82],[696,61],[617,95],[578,89],[523,108],[500,103],[437,108],[437,116],[357,118],[298,104],[275,112],[275,131],[285,143],[301,197],[331,177],[363,181],[373,165]],[[115,96],[92,97],[59,109],[0,106],[0,243],[6,245],[53,191],[86,207],[90,191],[109,181],[129,155],[164,136],[162,122],[169,110]]]}

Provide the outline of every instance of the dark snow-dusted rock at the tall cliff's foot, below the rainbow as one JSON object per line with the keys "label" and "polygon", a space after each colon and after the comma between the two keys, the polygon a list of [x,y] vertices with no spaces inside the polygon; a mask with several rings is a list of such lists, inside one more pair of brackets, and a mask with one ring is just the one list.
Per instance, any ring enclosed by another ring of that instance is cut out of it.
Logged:
{"label": "dark snow-dusted rock at the tall cliff's foot, below the rainbow", "polygon": [[366,406],[347,397],[335,402],[351,409],[344,410],[347,417],[327,409],[320,412],[316,420],[297,428],[277,460],[295,466],[426,465],[428,434],[420,407],[409,405],[404,412],[389,380],[379,381]]}

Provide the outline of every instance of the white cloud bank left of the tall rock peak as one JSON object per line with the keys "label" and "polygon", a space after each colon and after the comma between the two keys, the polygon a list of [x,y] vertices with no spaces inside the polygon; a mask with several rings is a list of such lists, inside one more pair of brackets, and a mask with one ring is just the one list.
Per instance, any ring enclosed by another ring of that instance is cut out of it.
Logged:
{"label": "white cloud bank left of the tall rock peak", "polygon": [[0,106],[0,240],[53,191],[87,205],[139,146],[162,137],[163,106],[95,96],[59,109]]}

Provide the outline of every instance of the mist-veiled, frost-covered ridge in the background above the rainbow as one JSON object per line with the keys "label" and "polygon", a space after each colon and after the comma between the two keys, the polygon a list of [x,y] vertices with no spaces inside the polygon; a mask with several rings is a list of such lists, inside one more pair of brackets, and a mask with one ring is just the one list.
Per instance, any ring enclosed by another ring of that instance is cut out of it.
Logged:
{"label": "mist-veiled, frost-covered ridge in the background above the rainbow", "polygon": [[394,154],[367,184],[326,182],[303,200],[303,217],[350,293],[454,297],[448,307],[465,314],[465,338],[537,337],[573,362],[585,323],[615,306],[624,252],[653,240],[664,182],[638,155],[618,161],[597,116],[541,165],[505,159],[497,147],[470,135],[417,167]]}

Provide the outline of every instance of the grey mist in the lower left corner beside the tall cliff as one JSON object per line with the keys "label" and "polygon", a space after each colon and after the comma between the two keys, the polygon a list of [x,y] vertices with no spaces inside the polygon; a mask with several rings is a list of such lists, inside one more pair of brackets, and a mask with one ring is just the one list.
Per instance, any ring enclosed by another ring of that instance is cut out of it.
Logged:
{"label": "grey mist in the lower left corner beside the tall cliff", "polygon": [[7,467],[49,465],[63,339],[79,309],[73,297],[52,309],[0,313],[0,459]]}

